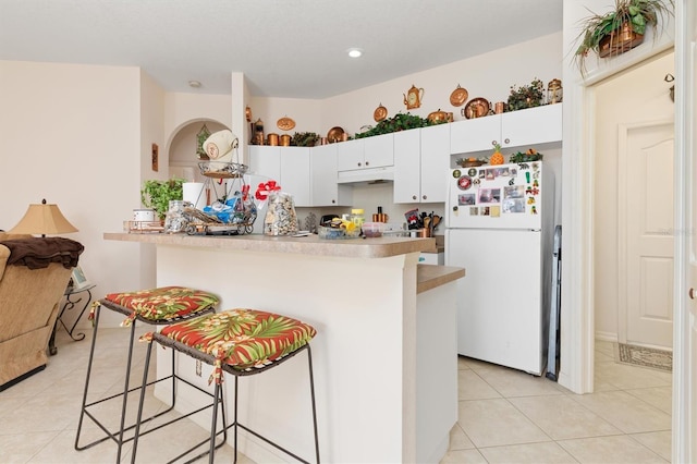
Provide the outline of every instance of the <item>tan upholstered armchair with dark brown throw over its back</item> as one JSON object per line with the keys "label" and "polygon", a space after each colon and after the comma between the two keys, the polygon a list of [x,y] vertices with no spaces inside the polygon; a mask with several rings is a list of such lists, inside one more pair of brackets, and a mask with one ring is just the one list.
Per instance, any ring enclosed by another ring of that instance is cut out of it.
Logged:
{"label": "tan upholstered armchair with dark brown throw over its back", "polygon": [[83,245],[0,232],[0,391],[46,368],[59,303]]}

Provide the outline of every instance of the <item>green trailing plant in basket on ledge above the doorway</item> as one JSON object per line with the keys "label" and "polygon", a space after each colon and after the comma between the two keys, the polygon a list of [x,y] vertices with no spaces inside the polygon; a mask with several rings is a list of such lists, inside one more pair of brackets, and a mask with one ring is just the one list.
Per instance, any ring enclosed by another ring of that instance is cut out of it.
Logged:
{"label": "green trailing plant in basket on ledge above the doorway", "polygon": [[644,41],[646,26],[657,30],[658,20],[673,15],[674,0],[615,0],[614,10],[582,21],[580,45],[574,61],[582,75],[590,51],[600,58],[617,56]]}

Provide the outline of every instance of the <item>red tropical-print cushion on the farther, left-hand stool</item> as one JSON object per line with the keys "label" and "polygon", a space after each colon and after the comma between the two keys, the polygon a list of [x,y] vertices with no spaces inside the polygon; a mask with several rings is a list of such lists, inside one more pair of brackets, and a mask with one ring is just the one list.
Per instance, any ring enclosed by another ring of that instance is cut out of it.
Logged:
{"label": "red tropical-print cushion on the farther, left-hand stool", "polygon": [[[216,295],[201,290],[161,286],[137,292],[110,293],[95,305],[103,304],[129,314],[122,326],[130,326],[137,316],[152,322],[167,322],[210,309],[218,302]],[[113,304],[120,308],[114,308]]]}

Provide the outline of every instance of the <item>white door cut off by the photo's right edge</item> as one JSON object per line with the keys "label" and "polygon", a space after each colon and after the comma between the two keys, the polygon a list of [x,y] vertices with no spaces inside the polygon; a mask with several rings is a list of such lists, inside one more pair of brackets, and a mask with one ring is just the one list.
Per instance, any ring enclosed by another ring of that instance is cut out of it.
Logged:
{"label": "white door cut off by the photo's right edge", "polygon": [[697,462],[697,5],[676,1],[676,300],[672,461]]}

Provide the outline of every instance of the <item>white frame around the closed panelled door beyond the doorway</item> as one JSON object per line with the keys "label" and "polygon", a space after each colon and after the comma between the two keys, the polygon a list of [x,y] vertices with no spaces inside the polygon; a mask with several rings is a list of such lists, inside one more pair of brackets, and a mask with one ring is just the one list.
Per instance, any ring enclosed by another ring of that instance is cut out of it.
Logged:
{"label": "white frame around the closed panelled door beyond the doorway", "polygon": [[[653,127],[657,125],[672,124],[675,127],[675,121],[670,119],[662,119],[656,121],[637,122],[629,124],[617,125],[617,192],[621,196],[619,203],[623,205],[617,210],[617,342],[627,342],[627,174],[626,170],[622,169],[627,163],[626,145],[627,134],[641,127]],[[675,152],[673,152],[673,162],[675,162]],[[674,175],[673,175],[674,176]],[[673,179],[673,190],[675,186],[675,180]],[[673,259],[675,259],[675,252],[673,252]],[[675,262],[675,261],[673,261]],[[673,289],[675,291],[675,289]]]}

